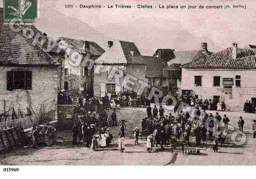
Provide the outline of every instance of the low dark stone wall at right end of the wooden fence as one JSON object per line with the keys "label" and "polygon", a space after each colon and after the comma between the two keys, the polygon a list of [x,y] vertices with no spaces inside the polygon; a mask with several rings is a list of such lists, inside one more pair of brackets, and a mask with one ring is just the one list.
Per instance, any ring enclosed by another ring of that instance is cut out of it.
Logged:
{"label": "low dark stone wall at right end of the wooden fence", "polygon": [[73,111],[75,106],[73,105],[58,105],[57,113],[58,113],[58,122],[57,129],[58,130],[67,130],[72,129],[73,126]]}

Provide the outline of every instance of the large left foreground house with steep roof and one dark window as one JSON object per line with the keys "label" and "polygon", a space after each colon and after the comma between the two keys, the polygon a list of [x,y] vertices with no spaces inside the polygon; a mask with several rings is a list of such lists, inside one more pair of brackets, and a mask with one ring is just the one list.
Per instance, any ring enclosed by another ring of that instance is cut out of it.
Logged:
{"label": "large left foreground house with steep roof and one dark window", "polygon": [[[34,28],[34,27],[32,27]],[[59,63],[32,45],[22,30],[0,22],[0,113],[14,108],[23,114],[54,109],[59,85]],[[4,101],[4,102],[3,102]]]}

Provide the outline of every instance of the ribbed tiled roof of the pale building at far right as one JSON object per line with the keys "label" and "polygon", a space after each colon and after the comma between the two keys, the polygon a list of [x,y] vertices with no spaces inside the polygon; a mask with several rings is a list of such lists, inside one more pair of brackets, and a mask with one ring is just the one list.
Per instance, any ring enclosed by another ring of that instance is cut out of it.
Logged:
{"label": "ribbed tiled roof of the pale building at far right", "polygon": [[256,49],[238,48],[237,59],[232,59],[232,48],[203,56],[183,68],[256,68]]}

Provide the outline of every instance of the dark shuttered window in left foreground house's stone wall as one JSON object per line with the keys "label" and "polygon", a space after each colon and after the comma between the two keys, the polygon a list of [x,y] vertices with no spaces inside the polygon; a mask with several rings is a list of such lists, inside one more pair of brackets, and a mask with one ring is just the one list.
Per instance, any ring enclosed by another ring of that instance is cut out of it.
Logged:
{"label": "dark shuttered window in left foreground house's stone wall", "polygon": [[7,72],[7,90],[13,89],[32,89],[31,71],[8,71]]}

